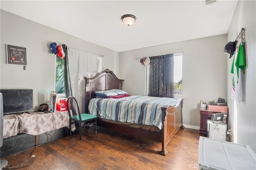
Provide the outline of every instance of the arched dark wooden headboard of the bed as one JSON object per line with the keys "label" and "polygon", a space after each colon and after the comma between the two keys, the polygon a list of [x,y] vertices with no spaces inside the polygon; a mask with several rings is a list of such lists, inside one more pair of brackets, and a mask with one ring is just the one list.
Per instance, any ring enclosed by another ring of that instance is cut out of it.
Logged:
{"label": "arched dark wooden headboard of the bed", "polygon": [[85,98],[84,98],[84,110],[88,113],[88,105],[91,98],[95,98],[95,91],[98,90],[110,90],[110,89],[121,89],[123,81],[117,78],[114,72],[108,68],[99,72],[94,77],[84,77],[85,79]]}

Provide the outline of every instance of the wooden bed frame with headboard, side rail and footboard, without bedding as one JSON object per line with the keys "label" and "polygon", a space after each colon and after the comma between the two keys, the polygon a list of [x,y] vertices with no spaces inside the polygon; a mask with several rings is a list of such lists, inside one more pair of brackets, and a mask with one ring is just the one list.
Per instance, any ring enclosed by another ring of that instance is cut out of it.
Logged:
{"label": "wooden bed frame with headboard, side rail and footboard, without bedding", "polygon": [[[109,69],[99,72],[94,77],[84,77],[85,79],[85,111],[89,111],[90,100],[101,100],[96,98],[94,92],[100,90],[120,89],[124,80],[117,78],[117,76]],[[133,97],[133,96],[131,96]],[[91,101],[92,102],[92,101]],[[92,104],[91,104],[92,105]],[[120,119],[108,120],[100,118],[98,115],[97,125],[120,133],[134,135],[145,139],[150,139],[162,143],[161,154],[166,155],[166,145],[170,139],[180,128],[184,128],[182,123],[182,106],[183,98],[176,99],[175,103],[165,104],[160,107],[160,123],[158,127],[155,125],[143,125],[142,123],[127,123],[120,122]],[[116,114],[116,113],[112,113]]]}

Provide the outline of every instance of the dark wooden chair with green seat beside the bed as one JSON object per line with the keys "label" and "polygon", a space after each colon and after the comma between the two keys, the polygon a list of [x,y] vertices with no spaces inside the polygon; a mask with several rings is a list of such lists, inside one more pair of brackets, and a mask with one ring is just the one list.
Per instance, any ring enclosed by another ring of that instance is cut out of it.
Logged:
{"label": "dark wooden chair with green seat beside the bed", "polygon": [[76,123],[79,125],[79,140],[82,139],[82,127],[95,125],[95,135],[97,134],[97,116],[89,113],[80,113],[79,104],[74,96],[67,99],[69,114],[69,135],[71,136],[71,125]]}

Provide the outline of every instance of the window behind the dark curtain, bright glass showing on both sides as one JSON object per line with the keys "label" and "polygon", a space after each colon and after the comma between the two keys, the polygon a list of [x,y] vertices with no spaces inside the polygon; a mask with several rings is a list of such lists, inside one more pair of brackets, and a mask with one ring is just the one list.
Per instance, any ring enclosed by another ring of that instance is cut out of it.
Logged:
{"label": "window behind the dark curtain, bright glass showing on both sides", "polygon": [[[144,93],[148,94],[149,67],[145,66],[145,87]],[[182,53],[174,54],[174,95],[182,95]]]}

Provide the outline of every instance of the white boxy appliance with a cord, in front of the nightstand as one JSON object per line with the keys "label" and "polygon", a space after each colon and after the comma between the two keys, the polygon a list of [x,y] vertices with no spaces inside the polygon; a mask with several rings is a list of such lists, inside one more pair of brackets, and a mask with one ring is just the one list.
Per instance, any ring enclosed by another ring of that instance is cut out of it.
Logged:
{"label": "white boxy appliance with a cord, in front of the nightstand", "polygon": [[208,138],[218,139],[226,141],[227,134],[226,131],[228,126],[225,122],[213,123],[211,120],[207,120],[208,124]]}

